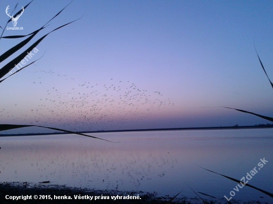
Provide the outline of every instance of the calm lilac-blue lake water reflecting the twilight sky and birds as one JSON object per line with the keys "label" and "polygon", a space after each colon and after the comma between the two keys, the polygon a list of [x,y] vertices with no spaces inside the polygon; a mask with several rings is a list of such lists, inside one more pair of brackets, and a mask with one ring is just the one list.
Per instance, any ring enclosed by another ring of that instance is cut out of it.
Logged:
{"label": "calm lilac-blue lake water reflecting the twilight sky and birds", "polygon": [[[273,193],[273,129],[150,131],[0,138],[0,181],[41,182],[95,189],[137,190],[196,197],[186,186],[228,198],[241,179],[268,160],[249,184]],[[234,199],[273,202],[249,187]],[[202,196],[206,198],[205,196]],[[260,197],[264,197],[263,199]]]}

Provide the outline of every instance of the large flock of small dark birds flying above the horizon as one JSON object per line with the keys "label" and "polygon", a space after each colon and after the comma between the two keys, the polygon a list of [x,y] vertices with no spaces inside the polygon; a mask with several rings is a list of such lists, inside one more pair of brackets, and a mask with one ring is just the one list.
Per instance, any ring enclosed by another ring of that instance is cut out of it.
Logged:
{"label": "large flock of small dark birds flying above the horizon", "polygon": [[[66,75],[53,71],[36,71],[39,72],[68,80]],[[44,97],[35,99],[36,106],[25,109],[21,115],[10,115],[8,109],[2,108],[0,117],[18,121],[18,124],[24,121],[25,124],[71,131],[113,130],[122,128],[125,123],[147,119],[156,111],[174,105],[161,92],[141,89],[130,81],[111,78],[105,83],[92,84],[86,81],[75,84],[74,78],[69,80],[71,82],[66,81],[50,88],[47,86]],[[42,84],[41,77],[33,81],[33,86]],[[71,84],[74,84],[73,88]]]}

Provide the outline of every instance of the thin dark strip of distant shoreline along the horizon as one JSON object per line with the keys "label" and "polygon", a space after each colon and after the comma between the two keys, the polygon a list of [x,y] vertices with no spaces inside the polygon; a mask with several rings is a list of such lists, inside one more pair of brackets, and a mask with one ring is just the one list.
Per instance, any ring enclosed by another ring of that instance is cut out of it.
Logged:
{"label": "thin dark strip of distant shoreline along the horizon", "polygon": [[[223,126],[223,127],[191,127],[191,128],[153,128],[153,129],[133,129],[133,130],[98,130],[98,131],[82,131],[76,133],[108,133],[108,132],[139,132],[139,131],[170,131],[170,130],[231,130],[231,129],[261,129],[273,128],[273,125],[251,125],[251,126]],[[55,133],[25,133],[25,134],[0,134],[0,137],[9,136],[32,136],[32,135],[60,135],[71,134],[66,132]]]}

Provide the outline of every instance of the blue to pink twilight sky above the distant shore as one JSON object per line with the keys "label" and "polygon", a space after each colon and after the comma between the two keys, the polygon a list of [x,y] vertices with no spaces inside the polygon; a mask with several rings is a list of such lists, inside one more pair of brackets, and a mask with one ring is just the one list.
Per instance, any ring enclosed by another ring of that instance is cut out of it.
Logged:
{"label": "blue to pink twilight sky above the distant shore", "polygon": [[[1,0],[0,26],[8,5],[11,13],[18,3],[16,13],[28,2]],[[34,0],[17,21],[23,30],[3,36],[37,30],[69,2]],[[76,19],[36,47],[28,63],[38,61],[0,84],[1,124],[93,131],[270,122],[223,107],[273,116],[255,51],[273,80],[273,1],[73,0],[28,47]],[[0,54],[24,39],[1,39]],[[47,130],[15,132],[27,131]]]}

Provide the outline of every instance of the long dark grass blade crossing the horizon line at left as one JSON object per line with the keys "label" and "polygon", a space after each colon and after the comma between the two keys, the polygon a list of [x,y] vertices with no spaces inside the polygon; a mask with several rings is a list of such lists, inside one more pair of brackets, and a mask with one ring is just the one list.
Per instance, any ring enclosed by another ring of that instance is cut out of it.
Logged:
{"label": "long dark grass blade crossing the horizon line at left", "polygon": [[95,139],[99,139],[99,140],[104,140],[104,141],[107,141],[107,142],[110,142],[110,143],[116,143],[116,142],[111,142],[109,140],[105,140],[105,139],[102,139],[102,138],[98,138],[98,137],[94,137],[94,136],[90,136],[90,135],[85,135],[83,133],[73,132],[73,131],[64,130],[64,129],[60,129],[60,128],[46,127],[46,126],[41,126],[41,125],[0,124],[0,131],[3,131],[3,130],[12,130],[12,129],[24,128],[24,127],[42,127],[42,128],[48,128],[48,129],[52,129],[52,130],[58,130],[58,131],[67,132],[67,133],[70,133],[70,134],[82,135],[82,136],[85,136],[85,137],[90,137],[90,138],[95,138]]}

